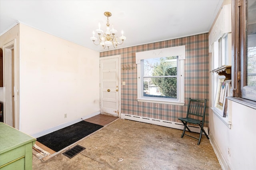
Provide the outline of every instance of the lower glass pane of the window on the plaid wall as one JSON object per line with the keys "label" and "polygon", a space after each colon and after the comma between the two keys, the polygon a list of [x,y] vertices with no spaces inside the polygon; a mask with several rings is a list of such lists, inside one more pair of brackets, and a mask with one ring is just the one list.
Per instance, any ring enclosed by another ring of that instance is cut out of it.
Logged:
{"label": "lower glass pane of the window on the plaid wall", "polygon": [[143,78],[143,96],[177,99],[177,77]]}

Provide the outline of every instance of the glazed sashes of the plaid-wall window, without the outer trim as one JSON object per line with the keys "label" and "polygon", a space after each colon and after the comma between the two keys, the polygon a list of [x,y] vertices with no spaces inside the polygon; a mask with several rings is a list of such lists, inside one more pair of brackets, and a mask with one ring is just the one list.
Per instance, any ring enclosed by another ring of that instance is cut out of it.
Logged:
{"label": "glazed sashes of the plaid-wall window, without the outer trim", "polygon": [[141,60],[143,97],[177,99],[178,56]]}

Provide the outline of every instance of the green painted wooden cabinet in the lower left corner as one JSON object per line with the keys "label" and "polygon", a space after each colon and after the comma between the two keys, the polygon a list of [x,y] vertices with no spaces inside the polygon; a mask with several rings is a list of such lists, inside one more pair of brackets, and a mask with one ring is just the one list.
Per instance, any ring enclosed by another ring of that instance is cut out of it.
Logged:
{"label": "green painted wooden cabinet in the lower left corner", "polygon": [[0,122],[0,170],[32,170],[33,138]]}

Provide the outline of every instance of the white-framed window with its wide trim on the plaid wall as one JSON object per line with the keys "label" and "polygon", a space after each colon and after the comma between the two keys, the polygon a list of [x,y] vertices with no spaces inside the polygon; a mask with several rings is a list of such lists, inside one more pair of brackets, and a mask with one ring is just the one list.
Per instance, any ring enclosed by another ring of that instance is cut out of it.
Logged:
{"label": "white-framed window with its wide trim on the plaid wall", "polygon": [[185,45],[136,53],[137,100],[184,105]]}

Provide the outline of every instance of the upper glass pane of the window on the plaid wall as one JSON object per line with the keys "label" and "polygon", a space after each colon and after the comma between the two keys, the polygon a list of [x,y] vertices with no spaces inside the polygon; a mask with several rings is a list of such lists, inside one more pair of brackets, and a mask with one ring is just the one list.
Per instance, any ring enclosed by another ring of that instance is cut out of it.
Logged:
{"label": "upper glass pane of the window on the plaid wall", "polygon": [[145,76],[177,75],[178,56],[144,59]]}

